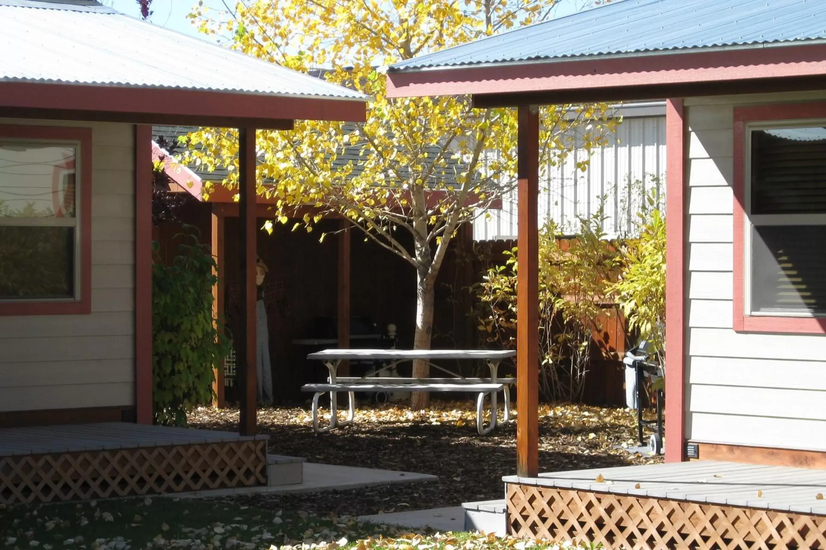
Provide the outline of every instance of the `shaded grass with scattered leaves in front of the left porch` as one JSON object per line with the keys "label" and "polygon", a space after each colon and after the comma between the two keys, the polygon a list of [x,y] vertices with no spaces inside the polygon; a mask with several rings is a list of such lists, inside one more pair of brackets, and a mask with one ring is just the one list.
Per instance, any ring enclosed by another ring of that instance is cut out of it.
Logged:
{"label": "shaded grass with scattered leaves in front of the left porch", "polygon": [[269,548],[391,534],[354,519],[169,497],[0,509],[0,548]]}

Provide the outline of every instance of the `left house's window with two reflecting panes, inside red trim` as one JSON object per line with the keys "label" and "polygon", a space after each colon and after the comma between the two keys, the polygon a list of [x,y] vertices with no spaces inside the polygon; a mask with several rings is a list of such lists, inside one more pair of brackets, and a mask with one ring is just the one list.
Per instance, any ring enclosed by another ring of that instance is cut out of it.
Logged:
{"label": "left house's window with two reflecting panes, inside red trim", "polygon": [[78,292],[76,145],[0,141],[0,301]]}

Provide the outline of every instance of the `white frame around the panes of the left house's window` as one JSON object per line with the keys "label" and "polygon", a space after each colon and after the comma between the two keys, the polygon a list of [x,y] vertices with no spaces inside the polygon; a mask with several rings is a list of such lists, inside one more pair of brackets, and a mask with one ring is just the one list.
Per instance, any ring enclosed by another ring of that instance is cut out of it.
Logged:
{"label": "white frame around the panes of the left house's window", "polygon": [[78,140],[49,140],[49,139],[23,139],[23,138],[2,138],[0,137],[0,146],[7,145],[41,145],[44,147],[73,147],[74,148],[74,216],[73,217],[58,217],[50,218],[20,218],[12,216],[0,216],[0,225],[6,227],[74,227],[74,296],[67,298],[0,298],[0,303],[37,303],[37,302],[74,302],[83,299],[83,284],[81,284],[81,277],[83,277],[83,250],[81,233],[83,228],[81,225],[81,217],[84,215],[82,202],[80,197],[85,191],[83,186],[83,170],[81,159],[82,145]]}

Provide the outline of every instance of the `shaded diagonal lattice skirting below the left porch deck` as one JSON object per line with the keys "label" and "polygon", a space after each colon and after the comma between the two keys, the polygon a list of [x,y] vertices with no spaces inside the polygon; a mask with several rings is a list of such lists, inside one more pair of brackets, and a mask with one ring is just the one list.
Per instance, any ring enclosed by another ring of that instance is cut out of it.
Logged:
{"label": "shaded diagonal lattice skirting below the left porch deck", "polygon": [[267,483],[267,442],[0,457],[0,503],[147,495]]}

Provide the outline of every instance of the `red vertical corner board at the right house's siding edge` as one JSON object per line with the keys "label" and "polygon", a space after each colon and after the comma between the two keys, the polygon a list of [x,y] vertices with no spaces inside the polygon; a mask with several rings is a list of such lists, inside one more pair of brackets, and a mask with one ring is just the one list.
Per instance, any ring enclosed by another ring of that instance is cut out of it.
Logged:
{"label": "red vertical corner board at the right house's siding edge", "polygon": [[666,102],[666,462],[686,459],[686,115]]}

